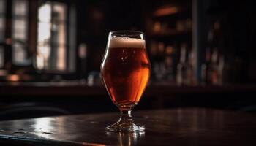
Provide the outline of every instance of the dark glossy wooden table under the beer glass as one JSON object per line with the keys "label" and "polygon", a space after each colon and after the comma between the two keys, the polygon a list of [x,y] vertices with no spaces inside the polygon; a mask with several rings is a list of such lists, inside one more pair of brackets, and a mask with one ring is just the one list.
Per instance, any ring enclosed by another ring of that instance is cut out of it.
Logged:
{"label": "dark glossy wooden table under the beer glass", "polygon": [[134,113],[140,133],[107,133],[118,112],[0,122],[0,145],[256,145],[256,116],[206,109]]}

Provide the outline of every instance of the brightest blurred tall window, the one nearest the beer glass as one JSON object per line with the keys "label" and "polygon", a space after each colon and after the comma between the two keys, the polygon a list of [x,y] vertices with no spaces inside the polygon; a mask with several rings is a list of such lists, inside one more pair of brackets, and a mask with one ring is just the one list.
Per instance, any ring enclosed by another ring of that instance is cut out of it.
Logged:
{"label": "brightest blurred tall window, the one nearest the beer glass", "polygon": [[47,1],[39,6],[37,69],[67,71],[67,4]]}

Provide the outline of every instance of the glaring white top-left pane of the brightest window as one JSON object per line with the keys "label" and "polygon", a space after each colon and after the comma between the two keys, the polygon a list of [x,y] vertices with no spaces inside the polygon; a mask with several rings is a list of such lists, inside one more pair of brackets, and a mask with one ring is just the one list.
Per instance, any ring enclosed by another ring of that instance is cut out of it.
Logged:
{"label": "glaring white top-left pane of the brightest window", "polygon": [[51,7],[50,3],[45,3],[41,7],[39,7],[39,12],[38,12],[38,19],[40,22],[46,22],[50,23],[50,13],[51,13]]}

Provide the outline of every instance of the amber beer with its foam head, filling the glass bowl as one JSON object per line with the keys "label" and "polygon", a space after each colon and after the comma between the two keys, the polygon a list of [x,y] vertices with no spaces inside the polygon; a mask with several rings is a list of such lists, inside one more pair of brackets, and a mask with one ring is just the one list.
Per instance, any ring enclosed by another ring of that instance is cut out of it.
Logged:
{"label": "amber beer with its foam head, filling the glass bowl", "polygon": [[149,74],[150,64],[144,40],[110,40],[102,62],[102,78],[115,104],[137,104],[146,88]]}

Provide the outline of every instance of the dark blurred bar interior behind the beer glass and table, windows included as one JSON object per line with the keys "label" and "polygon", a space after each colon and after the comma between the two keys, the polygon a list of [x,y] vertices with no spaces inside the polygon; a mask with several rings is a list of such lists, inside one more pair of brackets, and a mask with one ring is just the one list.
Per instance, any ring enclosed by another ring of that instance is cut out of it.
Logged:
{"label": "dark blurred bar interior behind the beer glass and table, windows included", "polygon": [[115,30],[146,34],[151,80],[138,109],[255,112],[255,7],[221,0],[0,0],[0,120],[116,110],[99,75]]}

